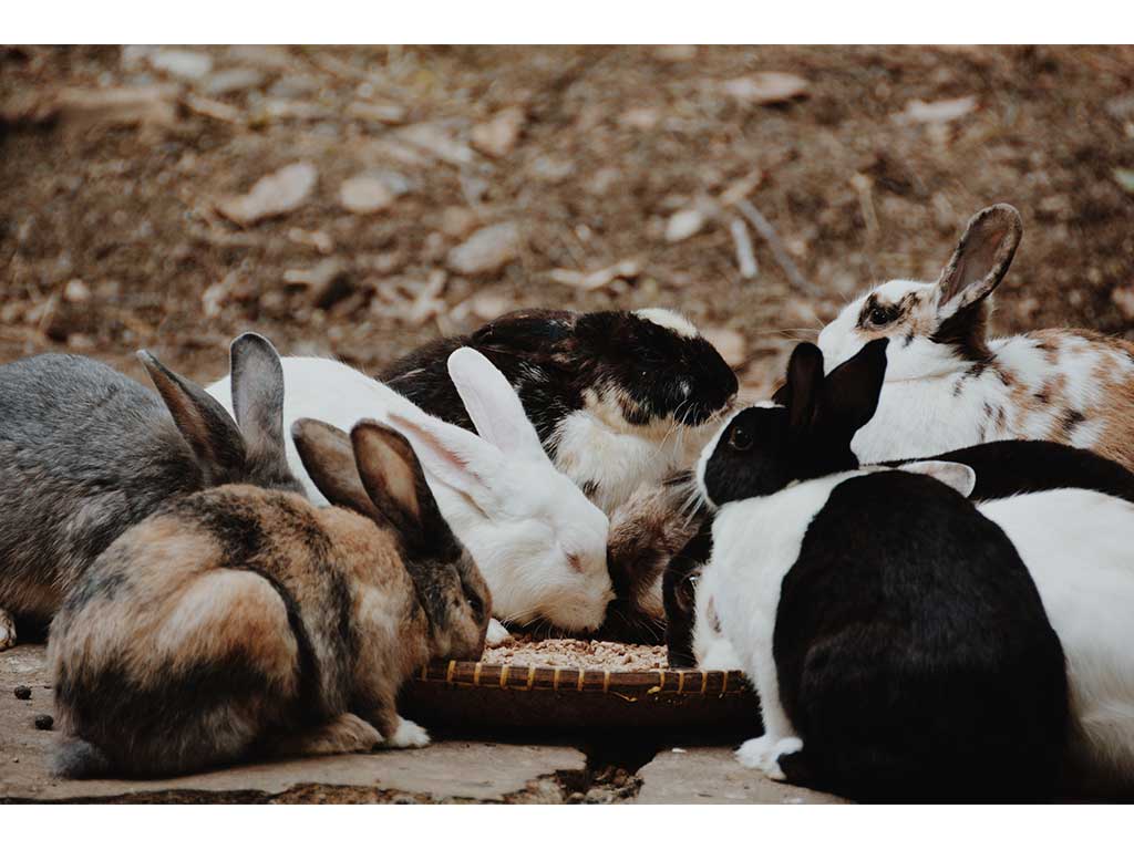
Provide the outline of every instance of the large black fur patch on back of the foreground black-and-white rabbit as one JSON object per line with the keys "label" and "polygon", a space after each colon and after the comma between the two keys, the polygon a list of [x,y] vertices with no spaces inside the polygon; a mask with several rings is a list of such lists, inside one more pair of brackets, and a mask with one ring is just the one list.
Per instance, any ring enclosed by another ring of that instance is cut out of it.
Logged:
{"label": "large black fur patch on back of the foreground black-and-white rabbit", "polygon": [[814,787],[891,802],[1056,789],[1059,639],[1004,532],[939,482],[831,492],[784,579],[773,655]]}

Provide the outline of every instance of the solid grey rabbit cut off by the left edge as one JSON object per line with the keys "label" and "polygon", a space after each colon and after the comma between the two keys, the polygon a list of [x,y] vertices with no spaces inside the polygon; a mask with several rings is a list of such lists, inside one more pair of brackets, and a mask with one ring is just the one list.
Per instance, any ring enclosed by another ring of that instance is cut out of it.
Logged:
{"label": "solid grey rabbit cut off by the left edge", "polygon": [[94,559],[170,499],[238,482],[302,492],[265,448],[284,396],[268,340],[232,342],[236,422],[153,355],[138,357],[160,396],[75,355],[0,366],[0,649],[17,620],[50,621]]}

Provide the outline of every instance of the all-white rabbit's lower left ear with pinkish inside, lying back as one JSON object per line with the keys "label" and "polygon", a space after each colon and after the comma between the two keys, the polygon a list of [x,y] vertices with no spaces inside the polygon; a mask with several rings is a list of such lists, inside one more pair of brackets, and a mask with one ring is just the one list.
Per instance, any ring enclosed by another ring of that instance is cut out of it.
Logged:
{"label": "all-white rabbit's lower left ear with pinkish inside, lying back", "polygon": [[494,503],[493,483],[505,464],[499,449],[428,414],[390,413],[388,419],[409,441],[429,475],[468,496],[482,510]]}

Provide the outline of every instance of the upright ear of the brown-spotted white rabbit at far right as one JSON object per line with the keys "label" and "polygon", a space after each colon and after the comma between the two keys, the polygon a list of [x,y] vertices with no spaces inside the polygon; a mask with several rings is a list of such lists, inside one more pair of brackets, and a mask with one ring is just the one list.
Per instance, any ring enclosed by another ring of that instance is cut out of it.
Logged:
{"label": "upright ear of the brown-spotted white rabbit at far right", "polygon": [[1023,233],[1019,213],[1008,204],[985,207],[968,220],[937,284],[941,320],[991,295],[1007,274]]}

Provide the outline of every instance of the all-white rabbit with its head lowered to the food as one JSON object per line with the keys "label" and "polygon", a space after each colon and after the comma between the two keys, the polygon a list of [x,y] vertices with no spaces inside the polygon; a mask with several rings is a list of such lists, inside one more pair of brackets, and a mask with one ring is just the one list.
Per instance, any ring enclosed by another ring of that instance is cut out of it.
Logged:
{"label": "all-white rabbit with its head lowered to the food", "polygon": [[[494,615],[538,619],[570,631],[596,629],[613,598],[607,517],[544,454],[507,380],[481,354],[458,349],[449,373],[480,435],[422,413],[390,388],[331,359],[282,358],[284,418],[349,428],[373,417],[403,432],[425,469],[441,513],[492,589]],[[229,381],[209,390],[230,408]],[[316,503],[295,445],[288,462]],[[493,623],[491,643],[507,638]]]}

